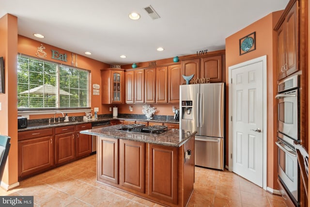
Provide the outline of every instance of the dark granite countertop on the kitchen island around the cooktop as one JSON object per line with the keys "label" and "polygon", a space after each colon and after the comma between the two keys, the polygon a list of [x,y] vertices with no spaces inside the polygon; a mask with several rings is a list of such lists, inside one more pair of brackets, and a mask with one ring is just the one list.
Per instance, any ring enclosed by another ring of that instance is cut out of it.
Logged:
{"label": "dark granite countertop on the kitchen island around the cooktop", "polygon": [[112,139],[134,140],[144,143],[155,143],[174,147],[182,146],[189,138],[196,134],[196,131],[185,132],[184,130],[179,129],[169,129],[168,131],[163,133],[152,134],[118,130],[120,128],[121,125],[114,125],[109,127],[83,130],[80,133],[95,136],[104,136]]}

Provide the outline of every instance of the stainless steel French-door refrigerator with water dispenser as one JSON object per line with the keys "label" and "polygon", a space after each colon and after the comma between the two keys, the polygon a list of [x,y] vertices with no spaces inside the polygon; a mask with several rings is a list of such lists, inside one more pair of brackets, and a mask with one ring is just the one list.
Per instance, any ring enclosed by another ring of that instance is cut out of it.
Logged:
{"label": "stainless steel French-door refrigerator with water dispenser", "polygon": [[224,170],[224,83],[180,86],[180,128],[197,131],[195,165]]}

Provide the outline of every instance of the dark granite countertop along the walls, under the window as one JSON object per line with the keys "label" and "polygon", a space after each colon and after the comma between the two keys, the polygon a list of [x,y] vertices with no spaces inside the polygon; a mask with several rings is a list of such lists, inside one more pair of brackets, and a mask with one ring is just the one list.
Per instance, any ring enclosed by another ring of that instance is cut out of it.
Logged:
{"label": "dark granite countertop along the walls, under the window", "polygon": [[90,119],[87,121],[83,120],[76,120],[76,121],[69,121],[69,122],[60,122],[60,123],[51,123],[48,124],[48,122],[36,122],[32,124],[28,124],[27,128],[20,128],[18,129],[18,132],[21,131],[29,131],[34,129],[43,129],[43,128],[51,128],[51,127],[62,127],[62,126],[69,126],[69,125],[78,125],[78,124],[85,124],[85,123],[98,123],[102,121],[110,121],[110,120],[132,120],[132,121],[149,121],[149,122],[158,122],[158,123],[171,123],[171,124],[179,124],[178,121],[175,121],[173,119],[166,119],[166,118],[157,118],[157,119],[151,119],[147,120],[146,118],[140,118],[140,117],[129,117],[129,116],[120,116],[117,118],[112,117],[98,117],[97,119]]}

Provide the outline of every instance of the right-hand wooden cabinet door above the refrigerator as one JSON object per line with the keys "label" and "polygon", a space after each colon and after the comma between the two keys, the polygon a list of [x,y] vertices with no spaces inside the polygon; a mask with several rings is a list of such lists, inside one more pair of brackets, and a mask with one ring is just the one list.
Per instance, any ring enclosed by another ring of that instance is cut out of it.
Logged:
{"label": "right-hand wooden cabinet door above the refrigerator", "polygon": [[201,58],[200,78],[210,82],[222,82],[222,55]]}

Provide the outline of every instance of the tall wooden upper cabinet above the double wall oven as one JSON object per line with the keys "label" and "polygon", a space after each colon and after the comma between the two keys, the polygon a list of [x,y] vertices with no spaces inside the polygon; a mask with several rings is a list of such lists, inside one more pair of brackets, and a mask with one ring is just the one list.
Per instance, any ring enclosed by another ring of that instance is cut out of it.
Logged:
{"label": "tall wooden upper cabinet above the double wall oven", "polygon": [[284,18],[280,18],[275,28],[278,32],[278,80],[298,70],[298,25],[298,1],[296,0]]}

